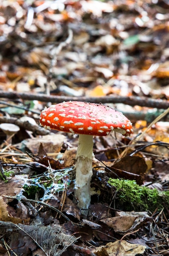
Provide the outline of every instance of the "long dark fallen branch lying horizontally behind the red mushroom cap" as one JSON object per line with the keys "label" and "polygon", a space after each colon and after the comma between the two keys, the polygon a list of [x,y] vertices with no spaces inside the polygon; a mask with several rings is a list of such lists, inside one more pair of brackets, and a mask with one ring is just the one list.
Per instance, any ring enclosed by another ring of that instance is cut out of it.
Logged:
{"label": "long dark fallen branch lying horizontally behind the red mushroom cap", "polygon": [[0,91],[0,98],[37,100],[42,102],[60,103],[62,101],[87,101],[93,103],[123,103],[130,106],[141,106],[149,108],[167,109],[169,101],[161,99],[150,99],[147,97],[121,97],[121,96],[105,96],[105,97],[68,97],[68,96],[48,96],[47,94],[31,94]]}

